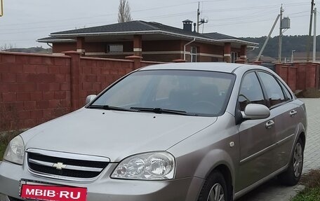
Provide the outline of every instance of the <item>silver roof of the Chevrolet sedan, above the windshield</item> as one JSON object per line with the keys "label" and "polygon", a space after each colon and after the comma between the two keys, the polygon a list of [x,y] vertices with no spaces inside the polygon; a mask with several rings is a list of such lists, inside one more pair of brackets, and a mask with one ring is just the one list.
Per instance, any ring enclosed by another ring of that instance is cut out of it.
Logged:
{"label": "silver roof of the Chevrolet sedan, above the windshield", "polygon": [[139,69],[145,70],[198,70],[198,71],[218,71],[225,73],[233,73],[236,69],[267,69],[257,65],[250,64],[232,64],[225,62],[187,62],[187,63],[169,63],[169,64],[155,64]]}

